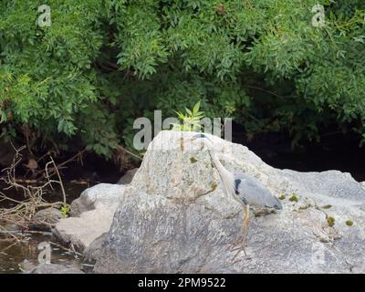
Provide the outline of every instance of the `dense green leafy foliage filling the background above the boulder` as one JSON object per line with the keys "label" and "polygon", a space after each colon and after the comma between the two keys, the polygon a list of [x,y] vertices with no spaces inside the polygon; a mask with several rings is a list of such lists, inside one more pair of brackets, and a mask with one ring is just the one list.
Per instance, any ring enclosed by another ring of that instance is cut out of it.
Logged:
{"label": "dense green leafy foliage filling the background above the boulder", "polygon": [[[42,4],[50,27],[36,26]],[[363,0],[2,0],[1,125],[111,157],[137,117],[195,125],[182,112],[201,100],[250,136],[287,130],[297,145],[335,124],[365,142],[364,18]]]}

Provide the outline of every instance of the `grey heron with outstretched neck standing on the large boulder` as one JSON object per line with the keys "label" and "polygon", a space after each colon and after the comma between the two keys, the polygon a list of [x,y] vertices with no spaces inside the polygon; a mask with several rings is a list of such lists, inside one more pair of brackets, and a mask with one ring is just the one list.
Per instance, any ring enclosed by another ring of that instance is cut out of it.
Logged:
{"label": "grey heron with outstretched neck standing on the large boulder", "polygon": [[245,239],[249,224],[249,206],[253,205],[257,207],[281,210],[283,208],[282,204],[276,198],[276,196],[270,193],[266,186],[255,177],[246,175],[242,172],[233,173],[227,171],[224,168],[224,165],[219,161],[217,151],[214,148],[213,142],[206,135],[196,134],[193,136],[192,141],[195,141],[196,139],[202,139],[204,145],[207,146],[212,161],[214,163],[214,167],[219,173],[220,180],[223,184],[224,193],[228,197],[232,197],[236,202],[240,203],[240,205],[243,206],[243,227],[245,229],[242,245],[240,246],[240,248],[238,248],[239,251],[236,255],[238,255],[241,250],[243,250],[245,253]]}

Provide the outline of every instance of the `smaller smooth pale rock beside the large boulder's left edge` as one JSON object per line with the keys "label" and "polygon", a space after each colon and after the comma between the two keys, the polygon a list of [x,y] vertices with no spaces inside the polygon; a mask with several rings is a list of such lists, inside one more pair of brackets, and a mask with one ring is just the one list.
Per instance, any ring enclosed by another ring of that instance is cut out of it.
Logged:
{"label": "smaller smooth pale rock beside the large boulder's left edge", "polygon": [[63,244],[73,245],[83,252],[110,230],[125,188],[124,185],[101,183],[87,189],[71,204],[74,216],[61,219],[53,229],[53,235]]}

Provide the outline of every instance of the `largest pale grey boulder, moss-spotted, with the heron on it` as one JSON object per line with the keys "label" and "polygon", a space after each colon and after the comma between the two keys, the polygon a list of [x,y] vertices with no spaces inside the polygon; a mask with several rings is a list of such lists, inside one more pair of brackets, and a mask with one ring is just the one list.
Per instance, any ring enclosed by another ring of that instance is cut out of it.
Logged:
{"label": "largest pale grey boulder, moss-spotted, with the heron on it", "polygon": [[285,196],[276,214],[252,210],[247,256],[234,260],[242,208],[224,195],[208,152],[189,147],[192,135],[162,131],[151,142],[94,272],[365,273],[365,190],[349,173],[278,170],[211,137],[228,170]]}

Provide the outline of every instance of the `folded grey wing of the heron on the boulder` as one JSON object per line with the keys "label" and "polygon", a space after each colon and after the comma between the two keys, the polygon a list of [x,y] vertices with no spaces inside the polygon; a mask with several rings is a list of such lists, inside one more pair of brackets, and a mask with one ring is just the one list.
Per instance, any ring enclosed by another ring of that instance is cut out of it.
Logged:
{"label": "folded grey wing of the heron on the boulder", "polygon": [[255,206],[282,209],[277,198],[255,177],[235,173],[235,193],[244,203]]}

